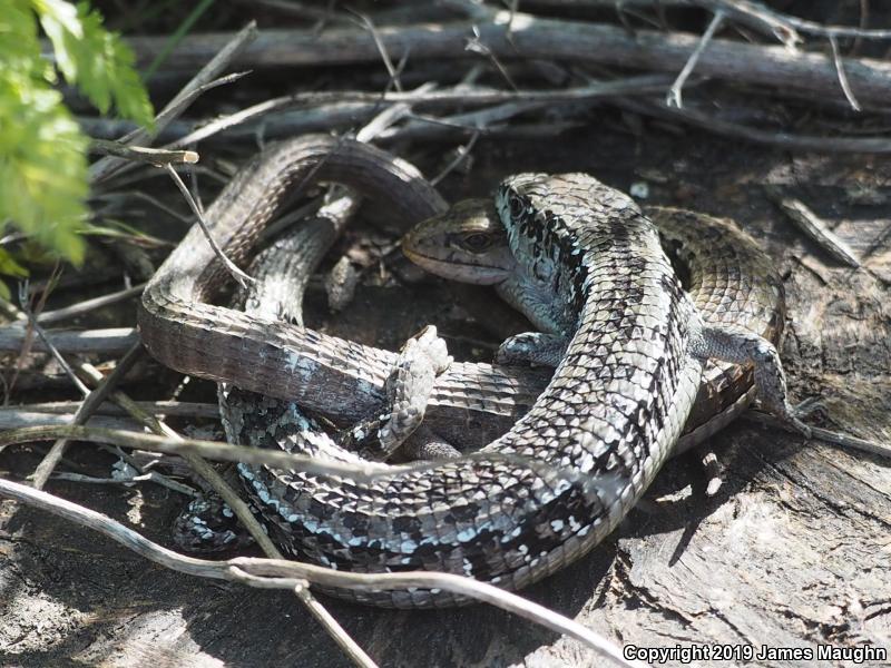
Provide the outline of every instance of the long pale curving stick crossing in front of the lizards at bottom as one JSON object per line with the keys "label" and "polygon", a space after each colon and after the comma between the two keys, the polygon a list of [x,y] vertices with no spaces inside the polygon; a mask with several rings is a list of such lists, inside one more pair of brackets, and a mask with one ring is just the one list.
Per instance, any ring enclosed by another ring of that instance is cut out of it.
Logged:
{"label": "long pale curving stick crossing in front of the lizards at bottom", "polygon": [[294,589],[303,586],[304,581],[355,591],[399,590],[409,587],[442,589],[495,605],[552,631],[575,638],[619,666],[634,668],[645,666],[640,661],[626,660],[615,645],[571,619],[516,593],[470,578],[425,571],[380,574],[350,573],[311,563],[273,559],[236,558],[227,561],[195,559],[163,548],[94,510],[27,485],[0,479],[0,494],[98,531],[155,563],[189,576],[238,581],[266,589]]}

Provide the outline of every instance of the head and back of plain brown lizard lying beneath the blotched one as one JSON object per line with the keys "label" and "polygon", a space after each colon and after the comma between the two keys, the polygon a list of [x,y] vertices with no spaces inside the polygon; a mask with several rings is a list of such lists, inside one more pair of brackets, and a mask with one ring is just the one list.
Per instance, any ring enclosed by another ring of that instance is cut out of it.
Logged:
{"label": "head and back of plain brown lizard lying beneath the blotched one", "polygon": [[[663,247],[676,258],[685,288],[709,325],[736,326],[779,344],[785,318],[783,284],[771,258],[730,222],[670,207],[646,207]],[[466,283],[492,285],[522,311],[506,279],[517,261],[489,199],[469,199],[414,227],[402,239],[405,255],[427,271]],[[506,284],[507,283],[507,284]],[[542,330],[556,326],[539,314]],[[756,392],[751,365],[709,361],[696,404],[677,444],[703,442],[746,410]]]}

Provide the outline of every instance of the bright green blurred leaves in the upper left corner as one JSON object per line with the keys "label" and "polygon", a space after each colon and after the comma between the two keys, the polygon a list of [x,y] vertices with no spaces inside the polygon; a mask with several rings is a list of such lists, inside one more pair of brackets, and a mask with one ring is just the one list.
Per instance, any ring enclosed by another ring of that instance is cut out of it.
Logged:
{"label": "bright green blurred leaves in the upper left corner", "polygon": [[[55,68],[41,57],[38,27],[52,45]],[[0,2],[0,224],[11,220],[79,263],[88,138],[53,89],[56,68],[102,114],[114,106],[120,116],[149,126],[153,109],[133,52],[105,30],[87,2]],[[0,261],[0,273],[17,273],[8,259]]]}

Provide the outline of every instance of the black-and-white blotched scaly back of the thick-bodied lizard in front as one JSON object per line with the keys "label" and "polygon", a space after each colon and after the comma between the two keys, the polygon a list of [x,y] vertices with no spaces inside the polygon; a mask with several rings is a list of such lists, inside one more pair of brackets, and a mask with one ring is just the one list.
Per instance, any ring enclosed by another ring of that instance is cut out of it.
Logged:
{"label": "black-and-white blotched scaly back of the thick-bodied lizard in front", "polygon": [[[540,220],[545,200],[564,217]],[[566,320],[576,318],[566,361],[529,414],[482,450],[491,461],[394,471],[363,487],[243,469],[293,556],[363,572],[452,571],[518,589],[611,531],[670,451],[698,387],[702,361],[685,350],[699,321],[649,220],[626,196],[580,175],[516,177],[500,202],[516,248],[533,250],[539,226],[550,225],[550,254],[518,281],[547,276]],[[577,248],[582,259],[574,263]],[[276,405],[282,413],[266,406],[247,431],[293,429],[286,406]],[[399,607],[466,602],[429,590],[336,593]]]}

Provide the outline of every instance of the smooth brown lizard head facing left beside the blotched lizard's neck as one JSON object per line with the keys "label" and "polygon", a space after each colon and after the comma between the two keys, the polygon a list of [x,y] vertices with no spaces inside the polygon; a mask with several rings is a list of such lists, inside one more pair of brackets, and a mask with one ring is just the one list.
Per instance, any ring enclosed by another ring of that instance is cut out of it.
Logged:
{"label": "smooth brown lizard head facing left beside the blotched lizard's neck", "polygon": [[478,285],[503,282],[517,265],[491,199],[459,202],[428,218],[403,237],[402,252],[432,274]]}

